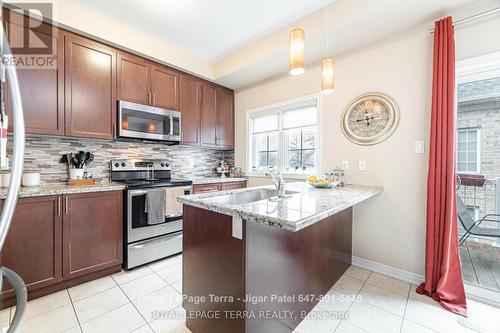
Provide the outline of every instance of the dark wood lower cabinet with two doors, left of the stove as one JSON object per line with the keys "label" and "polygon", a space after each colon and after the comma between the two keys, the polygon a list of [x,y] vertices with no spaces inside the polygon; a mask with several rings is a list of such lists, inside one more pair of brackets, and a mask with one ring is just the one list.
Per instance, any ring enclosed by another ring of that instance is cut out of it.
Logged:
{"label": "dark wood lower cabinet with two doors, left of the stove", "polygon": [[[112,191],[20,198],[1,265],[23,278],[29,299],[120,271],[122,196]],[[14,304],[5,283],[0,308]]]}

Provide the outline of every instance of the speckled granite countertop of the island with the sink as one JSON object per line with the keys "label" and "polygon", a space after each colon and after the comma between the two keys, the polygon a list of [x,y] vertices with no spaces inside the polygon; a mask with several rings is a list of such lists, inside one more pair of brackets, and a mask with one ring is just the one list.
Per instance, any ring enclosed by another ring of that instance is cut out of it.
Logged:
{"label": "speckled granite countertop of the island with the sink", "polygon": [[[317,189],[305,182],[286,184],[287,191],[296,191],[292,197],[270,201],[268,199],[241,205],[219,203],[212,197],[274,189],[274,186],[250,187],[222,192],[186,195],[177,198],[183,204],[215,211],[226,215],[239,215],[242,219],[269,224],[290,231],[301,230],[346,208],[382,192],[381,186],[346,185],[332,189]],[[209,200],[206,200],[209,199]]]}

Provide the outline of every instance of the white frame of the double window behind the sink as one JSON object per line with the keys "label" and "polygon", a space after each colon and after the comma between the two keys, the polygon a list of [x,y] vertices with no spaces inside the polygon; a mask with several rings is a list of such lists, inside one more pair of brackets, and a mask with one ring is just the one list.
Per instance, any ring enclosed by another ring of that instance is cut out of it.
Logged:
{"label": "white frame of the double window behind the sink", "polygon": [[[319,175],[322,170],[322,154],[321,154],[321,142],[322,142],[322,131],[321,131],[321,119],[322,119],[322,107],[321,107],[321,94],[312,94],[307,96],[302,96],[299,98],[288,99],[285,101],[281,101],[278,103],[265,105],[257,108],[253,108],[247,110],[246,112],[246,166],[247,166],[247,175],[250,177],[266,177],[265,172],[258,172],[252,170],[252,159],[253,159],[253,146],[252,146],[252,118],[255,115],[266,115],[266,114],[276,114],[279,113],[278,117],[278,168],[284,178],[288,179],[307,179],[310,175]],[[289,129],[283,129],[282,126],[282,117],[281,114],[289,109],[293,109],[294,105],[300,106],[300,104],[304,104],[307,102],[316,104],[316,125],[308,125],[304,127],[296,127],[296,128],[307,128],[307,127],[316,127],[316,142],[315,142],[315,169],[313,173],[287,173],[286,170],[286,152],[285,152],[285,134],[284,132]],[[274,132],[274,131],[273,131]],[[264,133],[264,132],[263,132]]]}

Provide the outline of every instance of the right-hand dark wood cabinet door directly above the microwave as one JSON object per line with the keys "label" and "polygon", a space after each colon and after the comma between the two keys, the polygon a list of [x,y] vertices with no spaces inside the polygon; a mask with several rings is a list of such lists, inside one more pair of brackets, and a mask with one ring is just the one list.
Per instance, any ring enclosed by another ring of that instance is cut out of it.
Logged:
{"label": "right-hand dark wood cabinet door directly above the microwave", "polygon": [[179,74],[164,66],[151,67],[151,104],[168,110],[178,110]]}

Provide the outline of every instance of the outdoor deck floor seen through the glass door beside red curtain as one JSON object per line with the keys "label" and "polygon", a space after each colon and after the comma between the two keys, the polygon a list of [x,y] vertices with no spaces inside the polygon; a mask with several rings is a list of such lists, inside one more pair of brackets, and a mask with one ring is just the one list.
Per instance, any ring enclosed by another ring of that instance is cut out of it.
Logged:
{"label": "outdoor deck floor seen through the glass door beside red curtain", "polygon": [[500,291],[500,248],[467,240],[460,257],[464,282]]}

